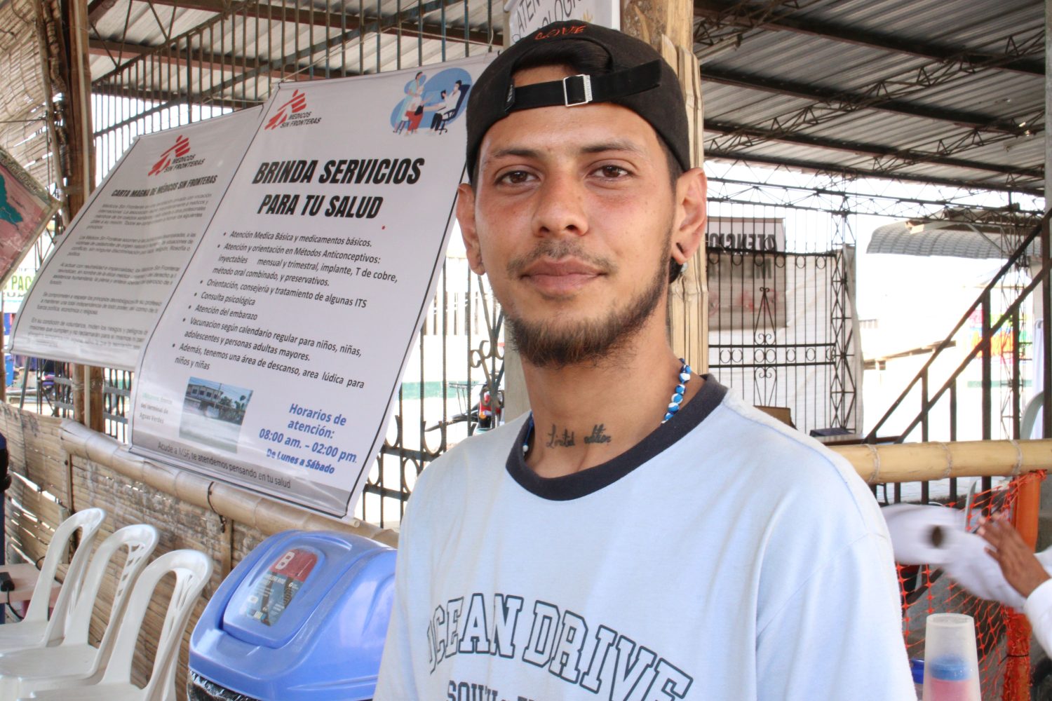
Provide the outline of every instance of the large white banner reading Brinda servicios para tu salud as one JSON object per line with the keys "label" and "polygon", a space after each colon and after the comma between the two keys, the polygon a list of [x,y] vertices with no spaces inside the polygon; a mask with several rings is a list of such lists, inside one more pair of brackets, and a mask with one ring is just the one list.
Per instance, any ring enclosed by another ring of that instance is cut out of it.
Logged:
{"label": "large white banner reading Brinda servicios para tu salud", "polygon": [[433,294],[488,60],[276,91],[146,346],[134,450],[348,516]]}

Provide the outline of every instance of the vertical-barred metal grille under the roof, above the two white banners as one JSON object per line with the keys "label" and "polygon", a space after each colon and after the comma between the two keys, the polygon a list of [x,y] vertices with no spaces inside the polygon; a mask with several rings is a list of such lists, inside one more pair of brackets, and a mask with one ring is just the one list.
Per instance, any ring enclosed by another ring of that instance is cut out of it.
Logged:
{"label": "vertical-barred metal grille under the roof, above the two white banners", "polygon": [[[216,3],[217,11],[150,4],[93,24],[98,172],[132,140],[264,102],[275,85],[427,65],[489,50],[489,2],[439,0]],[[176,32],[178,27],[185,27]],[[136,37],[164,36],[144,48]],[[128,57],[132,56],[130,60]]]}

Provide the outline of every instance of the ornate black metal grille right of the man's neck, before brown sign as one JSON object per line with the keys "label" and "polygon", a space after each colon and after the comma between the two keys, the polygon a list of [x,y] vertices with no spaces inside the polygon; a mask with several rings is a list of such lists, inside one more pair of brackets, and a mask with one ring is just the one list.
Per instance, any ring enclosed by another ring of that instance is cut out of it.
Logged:
{"label": "ornate black metal grille right of the man's neck, before brown sign", "polygon": [[856,428],[848,257],[708,252],[710,301],[732,295],[723,309],[709,305],[709,368],[749,403],[790,409],[805,431]]}

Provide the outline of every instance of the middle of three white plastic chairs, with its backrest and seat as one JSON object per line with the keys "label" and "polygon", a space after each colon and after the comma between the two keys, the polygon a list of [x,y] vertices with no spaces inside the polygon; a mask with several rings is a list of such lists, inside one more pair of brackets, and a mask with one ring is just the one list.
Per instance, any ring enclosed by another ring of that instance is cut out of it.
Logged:
{"label": "middle of three white plastic chairs, with its backrest and seat", "polygon": [[[0,699],[28,696],[35,689],[59,688],[90,684],[102,676],[109,652],[124,615],[125,604],[139,573],[157,545],[157,529],[153,525],[126,525],[102,541],[92,564],[84,574],[84,583],[77,602],[69,611],[66,634],[54,647],[18,650],[0,655]],[[92,614],[110,560],[127,550],[124,568],[117,578],[109,620],[99,646],[88,640]]]}

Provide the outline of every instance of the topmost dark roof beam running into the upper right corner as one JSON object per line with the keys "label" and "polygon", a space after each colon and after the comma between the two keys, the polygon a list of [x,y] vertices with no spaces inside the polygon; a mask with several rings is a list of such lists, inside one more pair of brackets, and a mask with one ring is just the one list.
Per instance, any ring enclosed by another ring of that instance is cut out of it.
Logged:
{"label": "topmost dark roof beam running into the upper right corner", "polygon": [[[850,24],[825,22],[808,17],[795,18],[789,13],[762,16],[757,21],[748,16],[755,15],[758,7],[750,7],[733,0],[694,0],[694,16],[712,18],[722,24],[737,24],[746,29],[763,28],[781,32],[807,34],[849,44],[881,48],[895,54],[906,54],[939,62],[964,63],[972,69],[999,68],[1031,76],[1044,76],[1045,65],[1039,59],[1031,59],[1021,54],[986,54],[970,51],[958,46],[945,46],[916,39],[907,39],[887,34],[857,29]],[[1044,42],[1041,42],[1044,46]]]}

